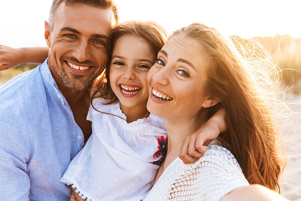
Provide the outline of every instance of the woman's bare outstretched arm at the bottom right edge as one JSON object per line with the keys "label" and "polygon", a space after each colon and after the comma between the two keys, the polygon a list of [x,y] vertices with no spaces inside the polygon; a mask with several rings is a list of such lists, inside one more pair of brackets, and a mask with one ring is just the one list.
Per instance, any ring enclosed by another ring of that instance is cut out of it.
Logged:
{"label": "woman's bare outstretched arm at the bottom right edge", "polygon": [[288,199],[262,185],[253,184],[237,188],[220,199],[220,201],[228,200],[287,201]]}

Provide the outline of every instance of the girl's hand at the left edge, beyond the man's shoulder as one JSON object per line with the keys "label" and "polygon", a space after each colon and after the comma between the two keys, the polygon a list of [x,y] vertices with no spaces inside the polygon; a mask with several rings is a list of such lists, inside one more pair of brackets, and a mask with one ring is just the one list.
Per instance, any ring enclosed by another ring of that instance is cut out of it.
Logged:
{"label": "girl's hand at the left edge, beyond the man's shoulder", "polygon": [[23,52],[20,48],[0,45],[0,70],[18,66],[23,61]]}

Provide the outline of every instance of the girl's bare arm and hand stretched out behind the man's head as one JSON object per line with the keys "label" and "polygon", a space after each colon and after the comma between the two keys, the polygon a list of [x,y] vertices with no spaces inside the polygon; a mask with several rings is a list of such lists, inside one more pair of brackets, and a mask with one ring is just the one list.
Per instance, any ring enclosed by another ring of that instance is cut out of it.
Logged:
{"label": "girl's bare arm and hand stretched out behind the man's head", "polygon": [[48,47],[12,48],[0,45],[0,70],[16,67],[22,63],[43,63]]}

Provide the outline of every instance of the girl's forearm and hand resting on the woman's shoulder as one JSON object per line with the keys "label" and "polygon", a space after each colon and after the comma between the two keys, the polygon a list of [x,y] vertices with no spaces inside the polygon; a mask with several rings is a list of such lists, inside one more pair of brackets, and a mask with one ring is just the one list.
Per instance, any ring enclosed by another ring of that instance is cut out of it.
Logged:
{"label": "girl's forearm and hand resting on the woman's shoulder", "polygon": [[179,158],[185,164],[198,160],[206,151],[207,145],[227,130],[225,109],[219,109],[204,126],[183,140]]}

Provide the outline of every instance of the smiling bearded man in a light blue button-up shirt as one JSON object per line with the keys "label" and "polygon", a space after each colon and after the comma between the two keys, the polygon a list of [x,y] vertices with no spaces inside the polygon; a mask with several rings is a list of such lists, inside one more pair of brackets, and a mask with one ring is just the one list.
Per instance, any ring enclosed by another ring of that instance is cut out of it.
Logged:
{"label": "smiling bearded man in a light blue button-up shirt", "polygon": [[91,135],[88,89],[117,21],[112,1],[53,1],[48,60],[0,88],[1,200],[69,200],[60,179]]}

